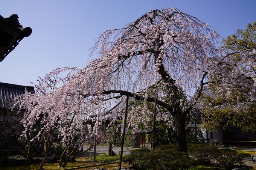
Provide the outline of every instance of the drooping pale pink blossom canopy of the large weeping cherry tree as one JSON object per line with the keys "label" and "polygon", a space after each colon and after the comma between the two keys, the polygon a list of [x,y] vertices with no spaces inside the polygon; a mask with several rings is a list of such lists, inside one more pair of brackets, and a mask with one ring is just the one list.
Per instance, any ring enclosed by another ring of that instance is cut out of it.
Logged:
{"label": "drooping pale pink blossom canopy of the large weeping cherry tree", "polygon": [[175,126],[175,116],[192,114],[206,84],[254,89],[255,81],[244,83],[247,77],[254,80],[255,62],[249,57],[254,54],[244,52],[241,60],[224,54],[216,31],[177,8],[149,11],[122,29],[101,33],[90,53],[98,57],[85,68],[57,68],[41,79],[36,92],[23,97],[23,123],[26,129],[40,123],[38,137],[54,129],[65,142],[95,111],[99,123],[110,108],[131,97],[143,102],[131,107],[130,127],[151,121],[146,101],[159,106],[157,119]]}

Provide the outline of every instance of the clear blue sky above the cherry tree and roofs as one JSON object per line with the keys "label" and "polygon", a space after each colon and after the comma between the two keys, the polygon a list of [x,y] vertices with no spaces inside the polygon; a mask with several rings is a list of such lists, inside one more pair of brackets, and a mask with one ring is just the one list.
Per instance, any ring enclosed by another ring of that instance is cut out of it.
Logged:
{"label": "clear blue sky above the cherry tree and roofs", "polygon": [[226,38],[256,20],[256,0],[2,0],[32,34],[2,62],[0,82],[29,86],[57,67],[84,68],[101,32],[122,28],[154,9],[177,7]]}

